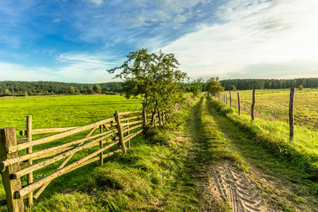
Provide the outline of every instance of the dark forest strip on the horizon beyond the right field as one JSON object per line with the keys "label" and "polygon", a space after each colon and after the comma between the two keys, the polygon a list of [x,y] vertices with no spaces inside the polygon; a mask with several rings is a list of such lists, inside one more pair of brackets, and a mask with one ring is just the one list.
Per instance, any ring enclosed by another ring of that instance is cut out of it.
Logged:
{"label": "dark forest strip on the horizon beyond the right field", "polygon": [[283,89],[298,88],[318,88],[318,78],[295,78],[295,79],[228,79],[220,81],[225,90],[233,90],[233,86],[237,90],[249,89]]}

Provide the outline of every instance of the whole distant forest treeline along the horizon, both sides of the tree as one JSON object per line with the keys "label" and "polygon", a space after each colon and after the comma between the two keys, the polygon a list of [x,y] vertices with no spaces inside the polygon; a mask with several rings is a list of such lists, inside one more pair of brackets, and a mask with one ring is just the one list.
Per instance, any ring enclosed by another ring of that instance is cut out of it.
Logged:
{"label": "whole distant forest treeline along the horizon, both sides of the tree", "polygon": [[[227,79],[220,81],[225,90],[249,89],[284,89],[318,88],[318,78],[295,79]],[[205,86],[206,83],[203,83]],[[60,95],[60,94],[86,94],[86,93],[120,93],[122,82],[112,83],[61,83],[52,81],[0,81],[0,96],[4,95]],[[189,91],[189,83],[179,83],[184,90]],[[203,90],[205,90],[203,88]]]}

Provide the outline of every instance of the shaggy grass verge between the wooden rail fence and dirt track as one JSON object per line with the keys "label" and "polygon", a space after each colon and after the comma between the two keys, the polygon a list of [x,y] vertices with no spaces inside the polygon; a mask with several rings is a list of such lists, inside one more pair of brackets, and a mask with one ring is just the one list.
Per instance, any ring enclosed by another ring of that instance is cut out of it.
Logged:
{"label": "shaggy grass verge between the wooden rail fence and dirt track", "polygon": [[204,211],[190,175],[190,143],[180,136],[188,114],[174,114],[150,136],[139,136],[126,154],[96,167],[85,184],[41,199],[28,211]]}

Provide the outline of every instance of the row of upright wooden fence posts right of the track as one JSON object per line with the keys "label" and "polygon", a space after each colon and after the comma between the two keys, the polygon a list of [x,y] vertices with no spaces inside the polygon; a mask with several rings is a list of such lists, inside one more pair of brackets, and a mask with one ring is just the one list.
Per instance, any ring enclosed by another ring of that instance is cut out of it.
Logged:
{"label": "row of upright wooden fence posts right of the track", "polygon": [[[230,92],[230,107],[232,107],[232,95]],[[218,98],[218,100],[224,102],[226,105],[228,105],[228,95],[224,94],[224,93],[218,93],[215,95],[216,98]],[[252,105],[251,105],[251,110],[250,110],[250,114],[251,114],[251,120],[252,122],[254,122],[254,107],[255,107],[255,98],[256,98],[256,91],[255,89],[252,91]],[[295,99],[295,88],[290,88],[290,101],[289,101],[289,140],[293,141],[294,139],[294,99]],[[237,108],[238,108],[238,115],[241,115],[241,102],[240,102],[240,93],[237,92]],[[275,110],[274,110],[274,117],[275,117]]]}

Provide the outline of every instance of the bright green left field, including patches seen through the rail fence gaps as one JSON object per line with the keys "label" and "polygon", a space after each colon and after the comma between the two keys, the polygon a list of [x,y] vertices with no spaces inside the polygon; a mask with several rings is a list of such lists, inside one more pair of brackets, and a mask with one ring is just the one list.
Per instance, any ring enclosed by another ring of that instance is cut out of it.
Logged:
{"label": "bright green left field, including patches seen through the rail fence gaps", "polygon": [[[16,133],[26,128],[25,116],[33,116],[33,129],[45,129],[64,126],[85,126],[101,119],[113,117],[116,110],[119,112],[141,110],[140,100],[126,100],[120,95],[69,95],[57,96],[52,98],[17,98],[11,100],[0,100],[0,128],[6,126],[16,126]],[[88,132],[83,132],[84,136]],[[83,134],[76,134],[73,139],[83,138]],[[33,140],[40,138],[43,135],[33,136]],[[18,138],[21,136],[18,135]],[[67,142],[67,139],[54,141],[43,146],[35,146],[33,151],[39,151],[57,146]],[[73,140],[75,141],[75,140]],[[69,163],[74,160],[83,158],[83,154],[92,152],[94,148],[76,153]],[[112,149],[110,149],[111,151]],[[22,153],[24,154],[24,153]],[[20,153],[19,153],[20,155]],[[40,160],[39,160],[40,161]],[[61,163],[61,162],[59,162]],[[34,179],[45,177],[49,173],[54,172],[59,163],[54,163],[41,170],[37,170]],[[49,196],[52,192],[59,192],[63,189],[72,187],[74,184],[81,184],[88,180],[87,172],[91,172],[98,163],[83,167],[79,170],[70,172],[67,175],[54,180],[45,192],[40,196]],[[26,177],[21,177],[22,183],[26,183]],[[1,184],[0,199],[5,199],[4,189]]]}

